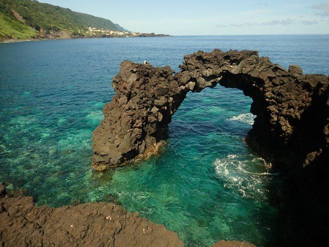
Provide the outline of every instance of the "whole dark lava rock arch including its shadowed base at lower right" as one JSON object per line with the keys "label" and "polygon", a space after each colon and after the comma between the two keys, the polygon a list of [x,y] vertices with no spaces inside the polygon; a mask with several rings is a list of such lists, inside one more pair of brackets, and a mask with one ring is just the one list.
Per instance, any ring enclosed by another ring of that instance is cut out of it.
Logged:
{"label": "whole dark lava rock arch including its shadowed base at lower right", "polygon": [[286,243],[325,241],[329,188],[329,77],[285,69],[257,51],[198,51],[185,55],[181,72],[169,66],[123,61],[113,78],[115,95],[93,132],[93,167],[104,170],[145,157],[167,138],[168,124],[187,92],[218,83],[253,99],[256,115],[246,141],[285,173],[280,191]]}

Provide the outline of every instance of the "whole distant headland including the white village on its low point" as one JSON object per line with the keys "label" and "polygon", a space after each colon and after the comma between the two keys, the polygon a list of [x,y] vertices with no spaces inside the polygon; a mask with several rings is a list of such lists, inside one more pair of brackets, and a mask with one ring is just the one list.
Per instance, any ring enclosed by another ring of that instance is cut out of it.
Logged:
{"label": "whole distant headland including the white village on its low point", "polygon": [[108,19],[32,0],[0,1],[0,24],[0,42],[169,36],[131,32]]}

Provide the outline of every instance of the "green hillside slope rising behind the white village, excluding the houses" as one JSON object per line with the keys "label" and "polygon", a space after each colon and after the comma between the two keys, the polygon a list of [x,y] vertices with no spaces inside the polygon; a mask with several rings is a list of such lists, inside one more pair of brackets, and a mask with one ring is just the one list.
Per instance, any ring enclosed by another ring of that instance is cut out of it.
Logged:
{"label": "green hillside slope rising behind the white village, excluding the houses", "polygon": [[44,37],[50,32],[77,34],[87,27],[125,31],[110,20],[35,0],[0,0],[0,39]]}

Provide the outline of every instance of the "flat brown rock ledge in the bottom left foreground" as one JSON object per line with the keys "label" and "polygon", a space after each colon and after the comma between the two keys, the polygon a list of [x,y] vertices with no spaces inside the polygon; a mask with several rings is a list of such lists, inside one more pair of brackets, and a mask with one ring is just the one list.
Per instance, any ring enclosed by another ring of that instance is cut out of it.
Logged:
{"label": "flat brown rock ledge in the bottom left foreground", "polygon": [[0,246],[4,247],[183,247],[177,234],[163,225],[110,203],[37,207],[31,197],[4,196],[0,205]]}

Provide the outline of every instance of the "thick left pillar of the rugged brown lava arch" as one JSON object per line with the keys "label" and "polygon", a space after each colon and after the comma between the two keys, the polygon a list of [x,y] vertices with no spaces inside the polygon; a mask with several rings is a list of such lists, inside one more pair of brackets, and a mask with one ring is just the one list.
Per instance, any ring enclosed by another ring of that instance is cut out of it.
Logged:
{"label": "thick left pillar of the rugged brown lava arch", "polygon": [[158,149],[171,116],[193,83],[179,82],[169,66],[121,63],[113,78],[115,95],[103,109],[104,120],[93,133],[93,166],[103,170]]}

